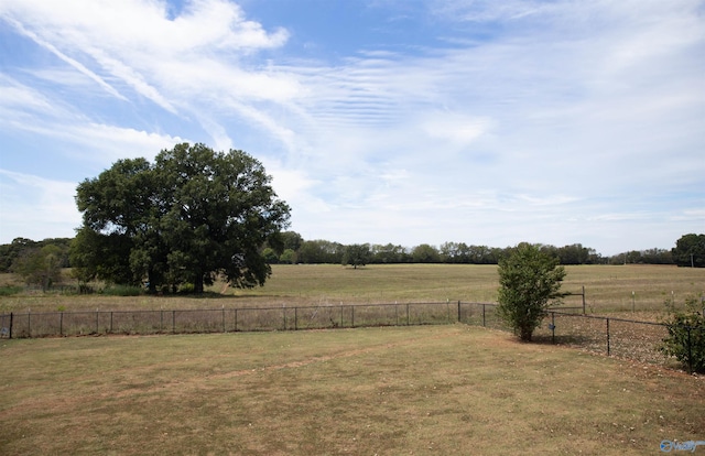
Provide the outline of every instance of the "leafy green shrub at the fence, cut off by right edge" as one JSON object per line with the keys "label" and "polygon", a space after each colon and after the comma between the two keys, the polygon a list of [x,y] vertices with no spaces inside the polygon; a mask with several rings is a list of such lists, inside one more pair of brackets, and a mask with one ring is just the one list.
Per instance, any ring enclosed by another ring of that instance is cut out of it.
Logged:
{"label": "leafy green shrub at the fence, cut off by right edge", "polygon": [[705,306],[697,297],[685,300],[685,311],[675,311],[666,301],[671,316],[666,321],[669,336],[659,350],[673,356],[694,372],[705,372]]}

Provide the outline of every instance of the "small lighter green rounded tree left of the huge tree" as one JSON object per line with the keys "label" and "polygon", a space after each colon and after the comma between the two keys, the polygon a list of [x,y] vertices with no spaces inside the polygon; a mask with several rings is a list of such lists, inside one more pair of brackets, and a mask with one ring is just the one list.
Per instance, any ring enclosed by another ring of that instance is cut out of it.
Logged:
{"label": "small lighter green rounded tree left of the huge tree", "polygon": [[62,251],[56,246],[25,249],[12,264],[12,271],[20,274],[30,285],[40,285],[46,291],[61,281]]}

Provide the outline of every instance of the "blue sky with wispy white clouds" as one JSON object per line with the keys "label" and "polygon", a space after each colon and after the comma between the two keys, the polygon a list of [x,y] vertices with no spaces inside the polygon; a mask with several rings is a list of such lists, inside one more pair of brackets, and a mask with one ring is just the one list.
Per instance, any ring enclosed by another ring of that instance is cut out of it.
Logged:
{"label": "blue sky with wispy white clouds", "polygon": [[0,0],[0,243],[78,183],[243,150],[306,240],[705,232],[705,1]]}

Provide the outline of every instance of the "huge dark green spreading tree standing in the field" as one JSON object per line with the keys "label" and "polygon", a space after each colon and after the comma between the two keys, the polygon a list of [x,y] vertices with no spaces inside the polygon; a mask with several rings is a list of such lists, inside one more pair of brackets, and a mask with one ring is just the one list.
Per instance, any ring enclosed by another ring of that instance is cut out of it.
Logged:
{"label": "huge dark green spreading tree standing in the field", "polygon": [[76,202],[84,224],[72,249],[84,278],[150,287],[191,283],[196,293],[221,275],[262,285],[271,269],[261,248],[289,224],[262,164],[242,151],[177,144],[151,164],[121,160],[86,180]]}

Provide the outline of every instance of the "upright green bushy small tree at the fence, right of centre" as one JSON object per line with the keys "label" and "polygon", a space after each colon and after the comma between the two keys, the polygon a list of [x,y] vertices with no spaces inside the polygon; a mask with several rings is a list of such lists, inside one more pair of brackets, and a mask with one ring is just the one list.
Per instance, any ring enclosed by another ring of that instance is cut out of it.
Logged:
{"label": "upright green bushy small tree at the fence, right of centre", "polygon": [[539,247],[520,243],[499,261],[500,317],[522,340],[531,340],[533,332],[546,315],[546,307],[561,297],[565,269],[558,259]]}

